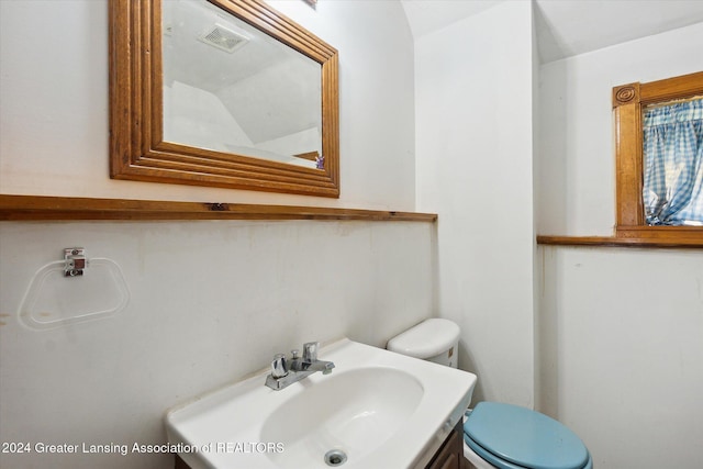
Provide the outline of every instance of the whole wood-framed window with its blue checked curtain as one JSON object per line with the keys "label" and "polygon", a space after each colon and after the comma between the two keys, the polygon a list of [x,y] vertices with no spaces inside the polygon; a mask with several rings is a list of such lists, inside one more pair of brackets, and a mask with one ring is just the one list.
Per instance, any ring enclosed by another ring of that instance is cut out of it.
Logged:
{"label": "whole wood-framed window with its blue checked curtain", "polygon": [[[616,237],[703,246],[701,98],[703,72],[613,88]],[[661,129],[674,124],[688,126],[688,137]],[[677,142],[687,147],[683,154],[662,149]]]}

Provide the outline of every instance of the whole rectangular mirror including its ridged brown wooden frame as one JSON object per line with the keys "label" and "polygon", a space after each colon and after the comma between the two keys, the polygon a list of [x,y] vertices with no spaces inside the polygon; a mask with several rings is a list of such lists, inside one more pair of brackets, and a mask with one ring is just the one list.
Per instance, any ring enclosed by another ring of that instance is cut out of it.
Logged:
{"label": "whole rectangular mirror including its ridged brown wooden frame", "polygon": [[[186,19],[197,14],[170,10],[179,5],[202,8],[211,19],[210,25],[194,26],[200,33],[188,43],[197,51],[194,55],[181,48],[185,43],[175,36],[186,29]],[[110,0],[109,11],[112,178],[339,197],[338,55],[334,47],[260,0]],[[299,83],[284,81],[293,72],[280,63],[257,66],[245,77],[222,71],[235,54],[266,55],[258,52],[255,44],[259,42],[282,46],[288,49],[280,52],[286,56],[300,56],[304,64],[300,67],[308,70],[302,81],[312,88],[299,91]],[[227,44],[242,53],[215,51]],[[204,59],[203,51],[220,55]],[[177,67],[181,71],[174,71]],[[205,76],[211,83],[199,89],[196,81]],[[212,85],[227,80],[225,91]],[[264,93],[279,81],[282,88]],[[231,90],[233,82],[236,92]],[[248,101],[216,103],[225,94],[244,96]],[[308,115],[317,111],[290,114],[291,109],[308,109],[303,101],[319,108],[316,120]],[[215,124],[211,114],[224,114],[227,122]],[[267,119],[275,121],[270,130],[265,129]],[[215,133],[223,137],[214,138]],[[317,143],[301,136],[315,134]]]}

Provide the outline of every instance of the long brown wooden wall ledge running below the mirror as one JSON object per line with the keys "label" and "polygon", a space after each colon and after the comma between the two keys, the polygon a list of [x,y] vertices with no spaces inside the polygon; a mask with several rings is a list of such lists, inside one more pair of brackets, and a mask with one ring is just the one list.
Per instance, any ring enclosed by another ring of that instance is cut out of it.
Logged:
{"label": "long brown wooden wall ledge running below the mirror", "polygon": [[0,194],[0,221],[360,220],[435,222],[434,213],[245,203]]}

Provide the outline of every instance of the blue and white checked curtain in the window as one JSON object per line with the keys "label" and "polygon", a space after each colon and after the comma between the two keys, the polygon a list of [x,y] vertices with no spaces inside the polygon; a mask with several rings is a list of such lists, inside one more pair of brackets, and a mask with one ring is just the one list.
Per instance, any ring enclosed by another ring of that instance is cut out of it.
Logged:
{"label": "blue and white checked curtain in the window", "polygon": [[649,225],[703,225],[703,98],[645,110],[643,200]]}

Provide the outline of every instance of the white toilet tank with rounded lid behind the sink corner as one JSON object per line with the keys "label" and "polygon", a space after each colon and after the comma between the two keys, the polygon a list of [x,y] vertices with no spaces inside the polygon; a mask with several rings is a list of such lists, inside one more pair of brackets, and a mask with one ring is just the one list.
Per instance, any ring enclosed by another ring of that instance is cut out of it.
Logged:
{"label": "white toilet tank with rounded lid behind the sink corner", "polygon": [[458,344],[459,326],[449,320],[433,317],[391,338],[386,348],[456,368]]}

